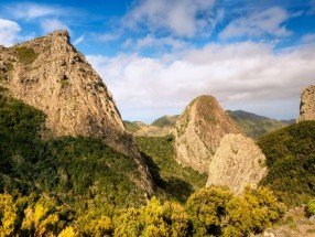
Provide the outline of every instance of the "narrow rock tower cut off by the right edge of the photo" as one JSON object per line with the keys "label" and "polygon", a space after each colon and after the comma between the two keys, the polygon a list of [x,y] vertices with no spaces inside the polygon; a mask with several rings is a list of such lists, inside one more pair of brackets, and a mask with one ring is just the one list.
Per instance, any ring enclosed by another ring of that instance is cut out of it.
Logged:
{"label": "narrow rock tower cut off by the right edge of the photo", "polygon": [[315,85],[305,88],[301,95],[298,121],[315,120]]}

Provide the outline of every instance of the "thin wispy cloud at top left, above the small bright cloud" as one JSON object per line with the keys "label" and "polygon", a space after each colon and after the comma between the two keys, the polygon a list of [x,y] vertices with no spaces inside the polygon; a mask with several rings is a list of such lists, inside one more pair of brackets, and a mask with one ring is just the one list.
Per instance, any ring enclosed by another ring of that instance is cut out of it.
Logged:
{"label": "thin wispy cloud at top left, above the small bright cloud", "polygon": [[56,17],[65,13],[63,9],[55,6],[52,7],[31,2],[12,4],[7,7],[7,9],[14,18],[24,20],[52,15]]}

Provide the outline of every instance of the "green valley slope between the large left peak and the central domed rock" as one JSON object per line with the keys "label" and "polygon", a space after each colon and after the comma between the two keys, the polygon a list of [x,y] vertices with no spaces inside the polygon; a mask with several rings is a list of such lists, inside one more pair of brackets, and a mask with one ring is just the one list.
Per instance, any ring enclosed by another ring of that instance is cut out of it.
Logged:
{"label": "green valley slope between the large left peak and the central domed rock", "polygon": [[137,144],[146,157],[149,169],[161,187],[161,195],[185,202],[207,182],[205,174],[180,165],[174,159],[173,138],[135,138]]}

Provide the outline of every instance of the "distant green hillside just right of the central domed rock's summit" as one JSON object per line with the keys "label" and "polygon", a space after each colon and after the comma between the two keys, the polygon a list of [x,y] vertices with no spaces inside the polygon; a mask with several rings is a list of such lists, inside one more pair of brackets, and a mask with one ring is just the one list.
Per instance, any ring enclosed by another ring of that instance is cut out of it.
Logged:
{"label": "distant green hillside just right of the central domed rock's summit", "polygon": [[259,139],[271,131],[286,126],[282,121],[242,110],[227,110],[227,112],[236,121],[237,126],[252,139]]}

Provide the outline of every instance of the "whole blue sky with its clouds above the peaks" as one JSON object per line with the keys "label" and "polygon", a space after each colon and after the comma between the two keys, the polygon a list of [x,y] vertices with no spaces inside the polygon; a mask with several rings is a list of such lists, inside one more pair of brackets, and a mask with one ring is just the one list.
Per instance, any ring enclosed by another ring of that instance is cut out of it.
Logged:
{"label": "whole blue sky with its clouds above the peaks", "polygon": [[124,120],[225,109],[298,116],[315,84],[315,0],[0,0],[0,44],[68,30]]}

